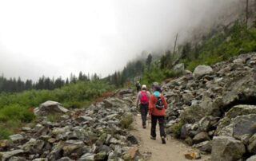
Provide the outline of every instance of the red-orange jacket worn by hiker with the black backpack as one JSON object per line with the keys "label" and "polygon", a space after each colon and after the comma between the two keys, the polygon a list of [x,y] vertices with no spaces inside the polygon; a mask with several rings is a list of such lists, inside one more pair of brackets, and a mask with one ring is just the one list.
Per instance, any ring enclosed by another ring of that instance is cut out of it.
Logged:
{"label": "red-orange jacket worn by hiker with the black backpack", "polygon": [[159,110],[158,108],[155,107],[155,104],[157,104],[158,98],[154,96],[154,94],[150,96],[150,104],[149,104],[150,115],[166,116],[166,109],[168,107],[168,104],[166,102],[165,97],[162,94],[161,94],[161,98],[165,108],[163,108],[162,110]]}

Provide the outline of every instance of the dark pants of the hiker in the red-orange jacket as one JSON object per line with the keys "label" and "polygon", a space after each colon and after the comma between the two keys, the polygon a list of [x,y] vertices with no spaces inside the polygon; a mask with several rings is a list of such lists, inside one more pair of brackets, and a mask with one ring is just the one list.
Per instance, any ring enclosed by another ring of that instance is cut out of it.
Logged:
{"label": "dark pants of the hiker in the red-orange jacket", "polygon": [[155,132],[155,128],[157,126],[157,122],[159,124],[160,128],[160,136],[166,137],[166,132],[165,132],[165,116],[153,116],[151,115],[151,135],[153,137],[156,137],[157,134]]}

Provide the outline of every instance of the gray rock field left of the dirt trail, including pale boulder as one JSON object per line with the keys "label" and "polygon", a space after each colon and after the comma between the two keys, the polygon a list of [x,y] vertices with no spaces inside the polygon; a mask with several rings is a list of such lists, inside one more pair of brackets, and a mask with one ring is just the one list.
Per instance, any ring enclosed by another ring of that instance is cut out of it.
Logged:
{"label": "gray rock field left of the dirt trail, including pale boulder", "polygon": [[[121,93],[126,93],[122,91]],[[130,91],[128,91],[130,92]],[[35,112],[40,121],[34,128],[24,127],[0,141],[0,159],[3,161],[89,161],[140,160],[138,144],[127,128],[133,120],[129,94],[121,99],[109,98],[87,109],[68,111],[57,102],[47,101]],[[136,111],[136,108],[135,108]],[[47,116],[60,116],[50,122]]]}

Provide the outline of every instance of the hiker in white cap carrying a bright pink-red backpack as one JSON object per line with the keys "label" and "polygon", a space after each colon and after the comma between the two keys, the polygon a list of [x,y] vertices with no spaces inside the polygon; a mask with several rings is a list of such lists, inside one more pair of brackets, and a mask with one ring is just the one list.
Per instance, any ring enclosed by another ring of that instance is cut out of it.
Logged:
{"label": "hiker in white cap carrying a bright pink-red backpack", "polygon": [[138,108],[142,115],[142,127],[146,128],[146,116],[149,111],[149,100],[150,100],[150,92],[146,90],[146,85],[142,85],[142,91],[138,92],[136,107]]}

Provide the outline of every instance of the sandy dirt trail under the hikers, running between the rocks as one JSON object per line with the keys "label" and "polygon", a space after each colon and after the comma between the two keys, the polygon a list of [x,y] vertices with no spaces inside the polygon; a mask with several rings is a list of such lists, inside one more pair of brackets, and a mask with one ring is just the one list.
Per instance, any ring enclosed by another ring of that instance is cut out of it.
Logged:
{"label": "sandy dirt trail under the hikers, running between the rocks", "polygon": [[[157,126],[157,139],[150,139],[150,126],[148,124],[146,129],[142,128],[141,116],[136,116],[134,121],[133,134],[139,139],[139,151],[146,156],[146,160],[151,161],[187,161],[185,154],[198,151],[192,147],[187,146],[178,139],[168,137],[166,144],[162,144],[159,136],[159,127]],[[150,156],[151,155],[151,156]],[[210,160],[210,155],[201,155],[199,161]]]}

